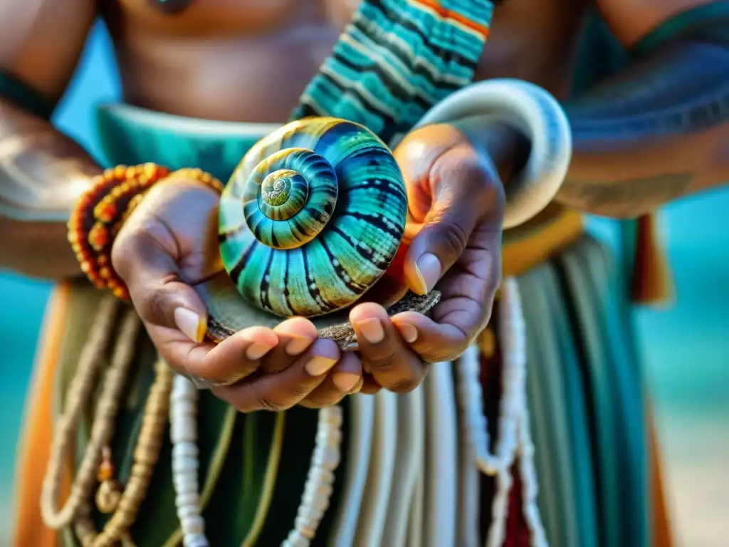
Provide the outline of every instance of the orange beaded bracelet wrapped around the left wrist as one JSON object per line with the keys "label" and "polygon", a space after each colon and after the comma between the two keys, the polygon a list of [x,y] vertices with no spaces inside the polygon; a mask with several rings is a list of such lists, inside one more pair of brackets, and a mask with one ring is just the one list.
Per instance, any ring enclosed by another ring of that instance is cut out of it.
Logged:
{"label": "orange beaded bracelet wrapped around the left wrist", "polygon": [[69,219],[69,243],[81,270],[99,289],[109,289],[128,300],[124,282],[112,268],[112,245],[120,228],[144,198],[147,190],[163,179],[195,180],[222,192],[223,185],[200,169],[171,171],[155,163],[117,166],[95,177],[93,185],[79,198]]}

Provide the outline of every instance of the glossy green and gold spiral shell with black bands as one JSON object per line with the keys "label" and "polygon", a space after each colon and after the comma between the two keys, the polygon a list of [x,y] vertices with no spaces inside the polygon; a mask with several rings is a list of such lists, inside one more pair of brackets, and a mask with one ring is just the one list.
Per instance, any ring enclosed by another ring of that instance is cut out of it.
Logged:
{"label": "glossy green and gold spiral shell with black bands", "polygon": [[383,275],[407,212],[402,173],[374,133],[338,118],[299,120],[252,147],[227,183],[222,262],[255,306],[327,314]]}

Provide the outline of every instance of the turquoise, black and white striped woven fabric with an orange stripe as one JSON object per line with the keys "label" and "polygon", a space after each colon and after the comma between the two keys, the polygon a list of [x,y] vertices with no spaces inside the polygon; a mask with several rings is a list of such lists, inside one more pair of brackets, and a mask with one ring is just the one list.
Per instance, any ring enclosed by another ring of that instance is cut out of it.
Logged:
{"label": "turquoise, black and white striped woven fabric with an orange stripe", "polygon": [[292,120],[335,116],[386,142],[472,82],[490,0],[362,0]]}

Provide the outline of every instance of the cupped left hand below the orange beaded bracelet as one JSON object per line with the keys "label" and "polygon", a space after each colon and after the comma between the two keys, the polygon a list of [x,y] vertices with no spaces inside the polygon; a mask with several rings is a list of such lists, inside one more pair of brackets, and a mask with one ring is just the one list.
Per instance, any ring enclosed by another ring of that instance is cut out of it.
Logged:
{"label": "cupped left hand below the orange beaded bracelet", "polygon": [[160,356],[241,411],[327,406],[356,391],[359,360],[340,359],[336,344],[319,340],[307,319],[250,327],[217,345],[203,340],[206,306],[192,287],[222,270],[218,203],[219,195],[198,182],[160,182],[114,242],[112,265]]}

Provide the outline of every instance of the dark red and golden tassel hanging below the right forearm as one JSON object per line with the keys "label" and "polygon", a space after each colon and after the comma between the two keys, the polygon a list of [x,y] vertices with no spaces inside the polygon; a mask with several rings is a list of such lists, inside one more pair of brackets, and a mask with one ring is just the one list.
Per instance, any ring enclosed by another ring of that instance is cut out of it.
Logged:
{"label": "dark red and golden tassel hanging below the right forearm", "polygon": [[674,282],[658,234],[656,214],[644,214],[637,222],[632,300],[645,306],[670,306],[674,300]]}

